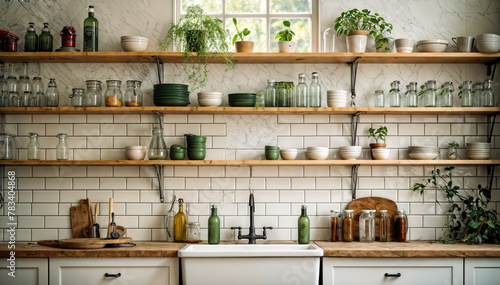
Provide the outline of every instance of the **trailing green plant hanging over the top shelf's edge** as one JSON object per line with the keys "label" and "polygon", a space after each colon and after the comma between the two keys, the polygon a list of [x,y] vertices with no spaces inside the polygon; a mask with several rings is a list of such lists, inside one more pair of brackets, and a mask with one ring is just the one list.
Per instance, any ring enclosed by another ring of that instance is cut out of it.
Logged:
{"label": "trailing green plant hanging over the top shelf's edge", "polygon": [[184,62],[189,63],[184,64],[184,72],[192,84],[190,90],[201,89],[206,85],[209,59],[226,62],[226,70],[234,68],[232,53],[229,52],[229,32],[222,24],[222,20],[207,15],[200,6],[188,6],[186,16],[177,24],[172,23],[159,44],[162,51],[173,44],[184,52]]}

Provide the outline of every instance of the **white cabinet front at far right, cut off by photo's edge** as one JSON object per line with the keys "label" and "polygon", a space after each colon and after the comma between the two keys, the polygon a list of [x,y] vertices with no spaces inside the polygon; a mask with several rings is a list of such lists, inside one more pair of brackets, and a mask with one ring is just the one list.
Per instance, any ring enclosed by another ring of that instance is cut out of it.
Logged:
{"label": "white cabinet front at far right, cut off by photo's edge", "polygon": [[500,283],[500,258],[466,258],[465,285]]}

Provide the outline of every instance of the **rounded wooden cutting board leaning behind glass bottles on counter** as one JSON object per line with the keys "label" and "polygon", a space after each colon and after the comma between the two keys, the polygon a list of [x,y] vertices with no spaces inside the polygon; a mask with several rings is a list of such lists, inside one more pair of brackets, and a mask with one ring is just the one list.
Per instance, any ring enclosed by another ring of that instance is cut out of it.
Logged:
{"label": "rounded wooden cutting board leaning behind glass bottles on counter", "polygon": [[396,240],[394,221],[398,214],[398,206],[394,201],[381,197],[359,198],[349,203],[347,209],[354,212],[354,240],[359,240],[359,215],[361,215],[361,210],[377,210],[375,212],[375,240],[377,241],[380,240],[380,210],[387,210],[387,240]]}

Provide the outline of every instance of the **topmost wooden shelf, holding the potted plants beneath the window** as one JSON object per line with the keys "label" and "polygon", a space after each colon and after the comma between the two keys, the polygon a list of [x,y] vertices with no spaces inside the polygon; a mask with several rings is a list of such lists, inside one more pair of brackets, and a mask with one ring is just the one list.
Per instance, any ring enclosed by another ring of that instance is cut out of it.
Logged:
{"label": "topmost wooden shelf, holding the potted plants beneath the window", "polygon": [[[156,63],[158,56],[164,63],[182,63],[181,52],[2,52],[3,63]],[[425,63],[494,63],[500,53],[235,53],[236,63],[359,63],[425,64]],[[211,63],[224,63],[217,59]]]}

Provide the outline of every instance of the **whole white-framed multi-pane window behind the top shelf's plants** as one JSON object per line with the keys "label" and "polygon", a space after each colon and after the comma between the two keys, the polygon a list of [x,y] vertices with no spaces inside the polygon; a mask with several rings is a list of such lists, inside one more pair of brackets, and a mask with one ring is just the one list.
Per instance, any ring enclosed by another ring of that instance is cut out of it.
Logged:
{"label": "whole white-framed multi-pane window behind the top shelf's plants", "polygon": [[[283,29],[283,20],[291,23],[295,32],[297,52],[317,51],[318,0],[176,0],[174,19],[184,15],[189,5],[200,5],[209,15],[223,20],[231,37],[238,28],[251,33],[245,40],[254,41],[256,52],[278,51],[277,32]],[[230,39],[228,39],[230,40]]]}

